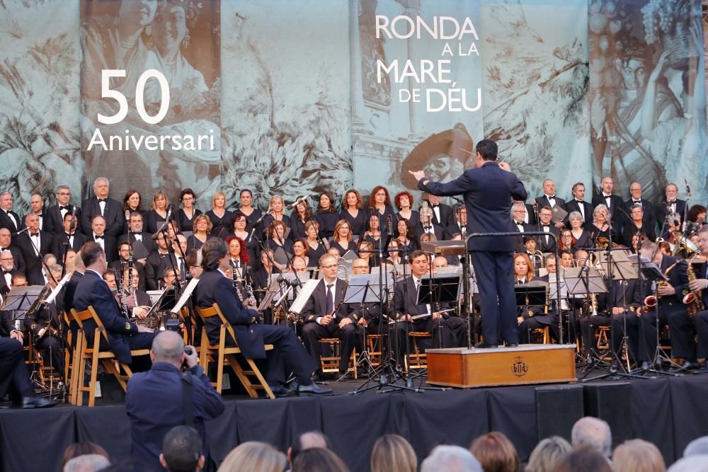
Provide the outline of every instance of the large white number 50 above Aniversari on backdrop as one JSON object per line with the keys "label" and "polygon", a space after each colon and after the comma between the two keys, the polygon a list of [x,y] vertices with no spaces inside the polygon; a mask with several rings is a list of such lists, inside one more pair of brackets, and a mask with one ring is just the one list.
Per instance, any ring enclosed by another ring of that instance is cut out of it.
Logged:
{"label": "large white number 50 above Aniversari on backdrop", "polygon": [[[120,123],[128,114],[128,100],[125,98],[125,95],[119,91],[110,89],[110,79],[112,77],[125,77],[125,70],[103,69],[101,73],[101,97],[113,98],[113,100],[118,102],[118,113],[115,115],[106,116],[98,113],[98,122],[103,123],[103,125],[115,125],[116,123]],[[150,78],[157,79],[161,91],[160,110],[155,116],[150,116],[147,114],[147,111],[145,111],[145,84]],[[169,105],[170,86],[164,74],[157,69],[147,69],[147,71],[140,74],[137,79],[137,84],[135,84],[135,108],[137,108],[137,114],[140,115],[142,120],[149,125],[156,125],[167,115]]]}

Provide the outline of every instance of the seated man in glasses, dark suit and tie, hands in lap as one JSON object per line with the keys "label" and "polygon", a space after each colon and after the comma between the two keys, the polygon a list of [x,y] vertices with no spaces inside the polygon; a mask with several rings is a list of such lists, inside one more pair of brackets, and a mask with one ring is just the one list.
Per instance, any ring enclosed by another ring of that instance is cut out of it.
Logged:
{"label": "seated man in glasses, dark suit and tie, hands in lap", "polygon": [[354,347],[359,352],[364,349],[362,317],[352,313],[344,304],[347,282],[337,277],[337,259],[333,255],[323,255],[319,260],[322,279],[312,292],[302,309],[304,326],[302,342],[310,356],[318,365],[321,357],[321,338],[339,338],[339,373],[345,374]]}

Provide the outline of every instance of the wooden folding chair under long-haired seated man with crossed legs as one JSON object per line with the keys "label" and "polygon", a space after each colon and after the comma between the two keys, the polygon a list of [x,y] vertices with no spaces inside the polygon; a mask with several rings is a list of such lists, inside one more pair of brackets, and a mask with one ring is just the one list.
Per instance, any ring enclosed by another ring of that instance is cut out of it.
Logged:
{"label": "wooden folding chair under long-haired seated man with crossed legs", "polygon": [[[219,309],[219,305],[213,304],[209,308],[195,308],[195,311],[197,312],[198,316],[202,318],[202,321],[204,321],[204,327],[202,328],[200,361],[204,372],[209,372],[209,357],[216,359],[217,381],[216,383],[212,382],[212,385],[215,386],[217,391],[219,393],[221,393],[222,391],[222,380],[224,378],[225,361],[227,364],[229,364],[229,366],[231,366],[234,371],[234,374],[236,374],[236,377],[238,377],[241,384],[244,386],[244,388],[246,388],[246,392],[251,398],[258,398],[258,390],[265,391],[265,394],[268,396],[268,398],[275,398],[273,391],[270,390],[270,386],[268,386],[268,382],[265,381],[263,374],[261,374],[261,371],[258,369],[258,367],[256,367],[256,362],[253,362],[253,359],[244,356],[241,352],[239,343],[236,342],[236,333],[234,333],[234,327],[231,326],[231,323],[227,321],[226,317],[224,316],[224,313],[222,313],[221,309]],[[221,322],[221,326],[219,327],[218,344],[211,344],[209,342],[209,338],[207,337],[207,318],[212,318],[212,316],[218,316],[219,321]],[[233,341],[234,347],[226,346],[227,333]],[[265,350],[273,350],[273,345],[266,344]],[[244,367],[241,367],[239,359],[242,359],[243,362],[246,362],[246,369],[244,369]],[[255,381],[252,381],[251,379],[254,379]]]}

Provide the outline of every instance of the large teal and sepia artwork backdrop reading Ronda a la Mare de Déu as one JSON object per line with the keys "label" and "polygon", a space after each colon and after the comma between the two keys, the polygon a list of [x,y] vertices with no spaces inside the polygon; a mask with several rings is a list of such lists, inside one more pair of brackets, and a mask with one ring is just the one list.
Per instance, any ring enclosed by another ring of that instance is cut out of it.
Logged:
{"label": "large teal and sepia artwork backdrop reading Ronda a la Mare de D\u00e9u", "polygon": [[703,30],[700,0],[1,0],[0,190],[418,200],[488,137],[532,196],[705,203]]}

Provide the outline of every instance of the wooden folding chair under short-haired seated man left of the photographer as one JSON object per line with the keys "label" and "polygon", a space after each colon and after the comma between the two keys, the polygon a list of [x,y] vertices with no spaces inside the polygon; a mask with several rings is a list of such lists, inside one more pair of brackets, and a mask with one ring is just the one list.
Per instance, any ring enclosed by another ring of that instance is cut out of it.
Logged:
{"label": "wooden folding chair under short-haired seated man left of the photographer", "polygon": [[[77,338],[77,349],[76,349],[76,361],[74,361],[74,372],[76,377],[76,396],[74,398],[74,405],[84,404],[84,392],[89,393],[89,407],[93,407],[96,404],[96,377],[98,376],[98,364],[103,365],[105,372],[115,376],[118,380],[118,384],[123,389],[127,390],[127,381],[132,376],[132,370],[127,364],[118,362],[115,359],[115,355],[110,351],[101,351],[101,338],[105,339],[108,343],[108,334],[105,331],[105,327],[101,322],[101,318],[98,318],[98,314],[93,309],[93,306],[89,306],[84,311],[76,312],[72,309],[72,316],[77,323],[79,323],[80,330],[82,333],[81,343],[79,345],[79,339]],[[86,328],[84,327],[84,322],[93,319],[96,323],[96,329],[93,330],[93,340],[91,345],[89,345],[89,338],[86,333]],[[131,356],[141,356],[149,355],[149,349],[137,349],[130,351]],[[86,376],[86,361],[91,362],[91,374],[89,379],[89,385],[84,385]],[[76,362],[79,362],[79,371],[76,372]],[[121,373],[121,369],[125,374]],[[74,384],[74,381],[72,381]]]}

